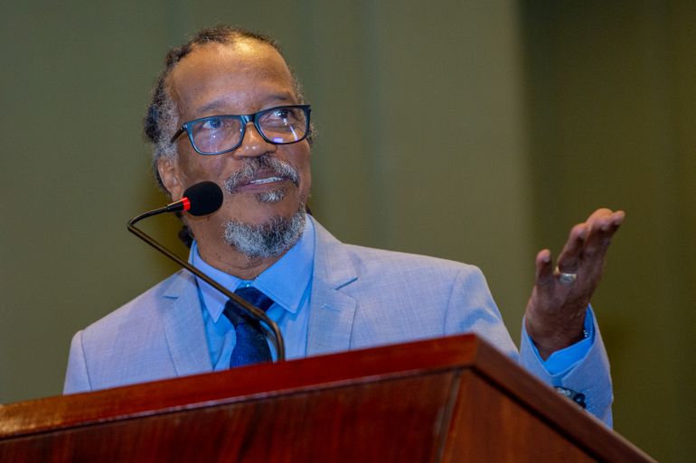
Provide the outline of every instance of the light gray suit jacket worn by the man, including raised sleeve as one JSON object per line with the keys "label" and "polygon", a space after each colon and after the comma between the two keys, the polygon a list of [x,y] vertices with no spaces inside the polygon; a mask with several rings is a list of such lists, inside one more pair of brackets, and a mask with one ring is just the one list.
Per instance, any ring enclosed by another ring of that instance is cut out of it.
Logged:
{"label": "light gray suit jacket worn by the man, including raised sleeve", "polygon": [[[547,383],[586,394],[588,410],[610,423],[598,331],[588,356],[553,377],[524,340],[518,356],[478,268],[344,245],[316,222],[315,230],[307,356],[475,332]],[[196,282],[181,271],[74,336],[64,392],[210,371]]]}

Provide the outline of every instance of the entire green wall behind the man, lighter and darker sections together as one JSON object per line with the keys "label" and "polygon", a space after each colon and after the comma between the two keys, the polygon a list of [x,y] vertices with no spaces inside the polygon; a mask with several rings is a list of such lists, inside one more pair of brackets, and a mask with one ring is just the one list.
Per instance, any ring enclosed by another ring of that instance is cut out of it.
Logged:
{"label": "entire green wall behind the man, lighter and darker sections together", "polygon": [[[60,394],[71,335],[174,271],[125,227],[165,201],[140,118],[165,51],[224,22],[277,37],[305,83],[315,216],[344,241],[481,266],[513,338],[536,251],[625,208],[594,300],[616,430],[696,458],[693,7],[556,4],[5,8],[0,403]],[[177,246],[174,220],[145,227]]]}

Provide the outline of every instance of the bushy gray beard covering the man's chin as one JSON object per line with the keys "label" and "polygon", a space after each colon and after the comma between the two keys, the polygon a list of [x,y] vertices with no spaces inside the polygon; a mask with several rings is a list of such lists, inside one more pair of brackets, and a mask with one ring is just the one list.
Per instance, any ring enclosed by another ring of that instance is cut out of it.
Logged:
{"label": "bushy gray beard covering the man's chin", "polygon": [[305,205],[300,204],[291,218],[276,216],[261,225],[230,220],[225,223],[224,239],[249,259],[277,257],[296,244],[305,230],[305,221]]}

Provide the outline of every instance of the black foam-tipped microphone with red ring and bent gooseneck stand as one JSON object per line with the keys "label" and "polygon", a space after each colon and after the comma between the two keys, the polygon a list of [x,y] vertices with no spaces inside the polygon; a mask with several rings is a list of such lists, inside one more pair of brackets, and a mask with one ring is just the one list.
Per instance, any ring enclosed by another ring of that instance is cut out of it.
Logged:
{"label": "black foam-tipped microphone with red ring and bent gooseneck stand", "polygon": [[213,288],[224,294],[226,297],[232,301],[237,302],[244,310],[246,310],[252,317],[259,319],[268,325],[268,328],[273,333],[273,338],[276,344],[277,351],[277,361],[282,362],[285,360],[285,342],[283,340],[283,335],[280,334],[280,329],[277,323],[272,319],[268,318],[268,315],[264,310],[260,310],[258,307],[251,305],[248,301],[240,298],[234,292],[230,292],[227,288],[222,286],[219,282],[213,280],[210,276],[202,273],[200,270],[195,268],[192,264],[181,259],[178,255],[174,255],[170,250],[165,248],[165,246],[160,245],[155,239],[147,235],[143,230],[136,227],[136,223],[140,220],[158,214],[163,214],[165,212],[177,212],[177,211],[187,211],[192,216],[200,217],[207,216],[218,210],[222,206],[222,190],[220,187],[212,181],[202,181],[190,186],[183,192],[182,199],[174,201],[167,204],[164,208],[157,208],[149,210],[131,218],[128,220],[128,231],[138,238],[145,241],[148,245],[153,246],[157,251],[166,255],[172,259],[176,264],[181,265],[183,268],[193,273],[199,277],[203,282],[207,282]]}

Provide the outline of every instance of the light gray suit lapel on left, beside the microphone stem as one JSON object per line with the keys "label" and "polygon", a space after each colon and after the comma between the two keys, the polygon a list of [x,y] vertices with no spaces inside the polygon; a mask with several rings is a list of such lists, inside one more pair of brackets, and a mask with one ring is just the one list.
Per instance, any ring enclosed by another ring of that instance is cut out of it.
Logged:
{"label": "light gray suit lapel on left, beside the microphone stem", "polygon": [[195,278],[188,271],[165,292],[165,338],[177,376],[212,371]]}

